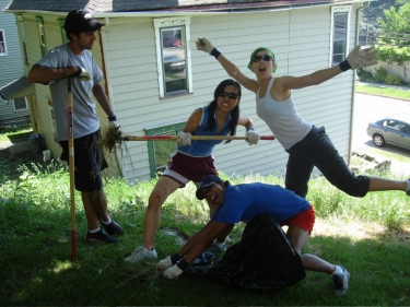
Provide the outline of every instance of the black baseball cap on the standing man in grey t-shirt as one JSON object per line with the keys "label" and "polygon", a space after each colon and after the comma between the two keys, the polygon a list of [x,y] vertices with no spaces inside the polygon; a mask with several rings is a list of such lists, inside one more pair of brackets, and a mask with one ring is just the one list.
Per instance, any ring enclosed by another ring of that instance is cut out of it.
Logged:
{"label": "black baseball cap on the standing man in grey t-shirt", "polygon": [[104,23],[101,23],[97,20],[95,20],[89,11],[73,10],[66,17],[65,31],[67,33],[90,32],[96,31],[104,25]]}

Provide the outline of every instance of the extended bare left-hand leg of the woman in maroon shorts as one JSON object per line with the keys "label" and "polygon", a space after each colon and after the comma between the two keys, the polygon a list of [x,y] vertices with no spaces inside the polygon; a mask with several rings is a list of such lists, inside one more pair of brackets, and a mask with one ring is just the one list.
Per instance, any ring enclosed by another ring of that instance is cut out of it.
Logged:
{"label": "extended bare left-hand leg of the woman in maroon shorts", "polygon": [[145,211],[144,219],[144,247],[152,250],[156,232],[161,222],[161,206],[169,194],[175,192],[180,184],[168,177],[160,177],[154,189],[152,190]]}

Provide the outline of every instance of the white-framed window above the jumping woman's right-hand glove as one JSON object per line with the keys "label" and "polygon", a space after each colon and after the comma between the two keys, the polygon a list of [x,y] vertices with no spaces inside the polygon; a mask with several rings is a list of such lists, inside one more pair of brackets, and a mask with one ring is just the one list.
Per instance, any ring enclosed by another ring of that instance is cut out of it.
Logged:
{"label": "white-framed window above the jumping woman's right-hand glove", "polygon": [[344,61],[350,31],[350,12],[351,7],[333,7],[331,8],[331,32],[330,32],[330,67],[337,66]]}

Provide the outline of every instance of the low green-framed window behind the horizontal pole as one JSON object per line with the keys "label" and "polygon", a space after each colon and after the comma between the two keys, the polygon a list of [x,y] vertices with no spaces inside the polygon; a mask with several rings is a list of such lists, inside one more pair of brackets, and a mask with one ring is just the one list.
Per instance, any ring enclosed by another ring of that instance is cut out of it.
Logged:
{"label": "low green-framed window behind the horizontal pole", "polygon": [[[167,126],[145,128],[147,135],[176,135],[185,127],[186,121],[175,122]],[[151,178],[155,178],[159,172],[164,172],[169,155],[175,152],[174,141],[148,141],[148,153],[150,158]]]}

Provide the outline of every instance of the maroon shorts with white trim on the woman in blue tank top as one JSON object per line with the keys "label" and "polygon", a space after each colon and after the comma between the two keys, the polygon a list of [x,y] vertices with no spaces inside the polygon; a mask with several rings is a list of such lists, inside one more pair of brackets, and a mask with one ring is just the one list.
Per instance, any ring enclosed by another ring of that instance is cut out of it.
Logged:
{"label": "maroon shorts with white trim on the woman in blue tank top", "polygon": [[169,177],[185,187],[190,180],[199,182],[203,176],[218,175],[213,156],[191,156],[180,152],[174,154],[162,176]]}

